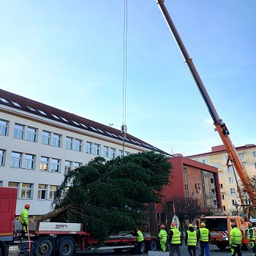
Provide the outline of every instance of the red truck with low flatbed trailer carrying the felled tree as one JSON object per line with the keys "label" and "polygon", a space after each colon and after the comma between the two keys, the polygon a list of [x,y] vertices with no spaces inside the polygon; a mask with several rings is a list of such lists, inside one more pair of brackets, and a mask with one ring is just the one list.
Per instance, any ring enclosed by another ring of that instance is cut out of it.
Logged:
{"label": "red truck with low flatbed trailer carrying the felled tree", "polygon": [[[30,222],[29,236],[20,240],[19,221],[15,222],[17,188],[0,187],[0,256],[72,256],[78,250],[132,249],[136,238],[130,234],[110,236],[103,243],[91,237],[80,223]],[[144,236],[141,252],[157,249],[156,236]]]}

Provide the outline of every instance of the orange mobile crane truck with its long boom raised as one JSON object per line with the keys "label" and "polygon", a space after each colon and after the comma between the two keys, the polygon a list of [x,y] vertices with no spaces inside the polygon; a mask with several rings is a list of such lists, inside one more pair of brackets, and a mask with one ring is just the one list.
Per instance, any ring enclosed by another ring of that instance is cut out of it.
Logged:
{"label": "orange mobile crane truck with its long boom raised", "polygon": [[[192,78],[195,80],[197,89],[200,91],[200,94],[203,97],[204,102],[206,103],[208,112],[210,113],[211,118],[214,121],[215,130],[219,133],[219,137],[221,138],[222,143],[225,146],[225,149],[228,155],[227,166],[233,167],[233,172],[235,174],[235,177],[236,177],[236,172],[238,173],[238,176],[241,179],[241,183],[243,184],[244,189],[249,197],[249,200],[251,201],[251,205],[244,204],[244,198],[241,193],[241,188],[239,187],[238,182],[236,180],[236,184],[238,187],[238,195],[241,200],[241,206],[243,207],[244,213],[246,214],[246,217],[247,217],[246,220],[249,220],[249,217],[251,217],[250,219],[251,222],[254,222],[256,195],[255,195],[255,190],[253,189],[253,186],[252,186],[252,181],[250,180],[248,174],[246,173],[246,170],[244,169],[244,166],[241,163],[241,160],[238,157],[235,146],[233,146],[233,143],[230,140],[230,136],[229,136],[230,132],[227,129],[225,122],[222,121],[221,118],[219,118],[219,115],[217,114],[217,110],[214,108],[214,105],[211,102],[211,99],[208,96],[208,93],[206,91],[206,88],[203,85],[203,81],[201,80],[197,72],[197,69],[193,64],[192,59],[187,53],[187,50],[181,40],[181,37],[179,36],[178,31],[176,30],[176,26],[174,25],[173,20],[170,18],[167,8],[165,7],[164,0],[157,0],[157,4],[159,6],[160,11],[162,12],[162,15],[165,18],[167,26],[169,27],[171,33],[173,34],[174,39],[176,40],[179,50],[181,50],[181,54],[184,57],[185,63],[187,64],[187,67],[191,72]],[[236,172],[235,172],[235,168],[236,168]],[[244,236],[242,242],[244,246],[247,247],[247,244],[249,244],[249,240],[246,239],[245,233],[246,233],[246,229],[248,229],[248,226],[247,226],[247,223],[244,222],[244,219],[242,219],[241,217],[206,217],[201,219],[201,221],[206,222],[206,225],[209,226],[210,232],[211,232],[211,239],[215,244],[217,244],[217,246],[220,249],[225,249],[225,246],[228,245],[228,240],[229,240],[228,235],[230,231],[231,220],[233,222],[236,222],[238,227],[241,229]]]}

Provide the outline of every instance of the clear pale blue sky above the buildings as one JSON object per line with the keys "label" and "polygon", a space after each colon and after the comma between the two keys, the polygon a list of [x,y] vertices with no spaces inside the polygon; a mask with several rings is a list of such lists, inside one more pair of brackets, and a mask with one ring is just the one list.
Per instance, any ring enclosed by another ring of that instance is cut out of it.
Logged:
{"label": "clear pale blue sky above the buildings", "polygon": [[[235,146],[255,143],[256,1],[166,0]],[[128,0],[128,132],[184,156],[221,144],[155,0]],[[122,124],[124,0],[0,0],[0,88]]]}

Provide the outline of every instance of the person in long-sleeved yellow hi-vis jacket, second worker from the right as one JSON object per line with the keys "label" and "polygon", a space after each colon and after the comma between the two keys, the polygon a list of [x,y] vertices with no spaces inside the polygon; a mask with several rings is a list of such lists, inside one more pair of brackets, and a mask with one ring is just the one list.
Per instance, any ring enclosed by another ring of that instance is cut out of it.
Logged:
{"label": "person in long-sleeved yellow hi-vis jacket, second worker from the right", "polygon": [[242,256],[241,245],[242,245],[242,233],[241,230],[236,227],[236,223],[231,223],[232,230],[230,230],[230,246],[231,246],[231,255]]}

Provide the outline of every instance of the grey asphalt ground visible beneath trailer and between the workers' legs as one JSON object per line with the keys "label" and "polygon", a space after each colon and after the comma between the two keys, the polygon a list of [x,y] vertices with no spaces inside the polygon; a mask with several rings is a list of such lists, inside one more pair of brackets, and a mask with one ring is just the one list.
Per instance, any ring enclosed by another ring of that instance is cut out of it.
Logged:
{"label": "grey asphalt ground visible beneath trailer and between the workers' legs", "polygon": [[[94,252],[78,252],[77,256],[126,256],[128,255],[128,252],[121,252],[121,253],[116,253],[113,252],[113,250],[102,250],[102,251],[94,251]],[[175,253],[174,255],[177,255]],[[187,251],[187,246],[181,246],[181,255],[182,256],[189,256],[189,252]],[[200,255],[200,248],[197,248],[197,256]],[[206,254],[205,254],[206,255]],[[230,253],[230,247],[227,247],[224,251],[220,250],[217,248],[217,246],[210,245],[210,255],[211,256],[226,256],[226,255],[231,255]],[[242,251],[243,256],[251,256],[252,251]],[[144,253],[143,256],[148,256],[148,253]]]}

